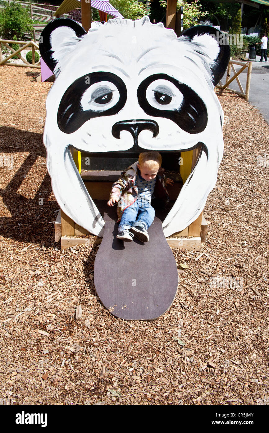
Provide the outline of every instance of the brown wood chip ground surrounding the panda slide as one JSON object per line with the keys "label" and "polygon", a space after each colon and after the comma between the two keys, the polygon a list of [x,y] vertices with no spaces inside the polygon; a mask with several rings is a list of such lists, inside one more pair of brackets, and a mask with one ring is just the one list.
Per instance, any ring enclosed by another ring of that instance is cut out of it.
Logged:
{"label": "brown wood chip ground surrounding the panda slide", "polygon": [[96,296],[98,245],[54,243],[59,207],[42,144],[52,84],[37,74],[0,68],[0,397],[268,404],[269,125],[240,96],[219,96],[224,157],[204,210],[207,241],[173,250],[180,281],[163,316],[124,321]]}

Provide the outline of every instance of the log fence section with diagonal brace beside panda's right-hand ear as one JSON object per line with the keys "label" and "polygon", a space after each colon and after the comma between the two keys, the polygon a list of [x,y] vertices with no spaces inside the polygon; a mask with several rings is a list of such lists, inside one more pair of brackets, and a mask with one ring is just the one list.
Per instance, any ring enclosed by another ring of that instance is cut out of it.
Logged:
{"label": "log fence section with diagonal brace beside panda's right-hand ear", "polygon": [[[234,69],[234,65],[240,65],[240,66],[242,66],[242,68],[240,68],[239,71],[236,72],[236,70]],[[246,68],[247,68],[247,83],[246,83],[246,90],[244,91],[244,89],[241,85],[241,82],[238,78],[238,75],[241,74],[241,72],[243,72],[244,69],[246,69]],[[231,69],[234,72],[234,75],[232,76],[232,78],[230,78]],[[250,95],[251,71],[252,71],[252,62],[251,61],[230,60],[228,68],[227,68],[226,83],[222,84],[222,82],[220,81],[220,84],[218,84],[217,87],[221,90],[224,90],[224,89],[232,90],[234,93],[237,93],[237,94],[243,96],[245,98],[245,100],[248,101],[248,98]],[[237,90],[234,90],[234,89],[231,89],[230,87],[228,87],[228,85],[231,84],[231,82],[234,80],[237,81],[237,84],[240,88],[240,91],[237,91]]]}

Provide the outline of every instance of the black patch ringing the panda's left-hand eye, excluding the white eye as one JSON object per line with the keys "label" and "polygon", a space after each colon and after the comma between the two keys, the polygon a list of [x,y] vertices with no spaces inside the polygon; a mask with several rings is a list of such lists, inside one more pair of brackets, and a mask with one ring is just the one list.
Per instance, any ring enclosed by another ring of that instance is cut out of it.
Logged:
{"label": "black patch ringing the panda's left-hand eye, excluding the white eye", "polygon": [[[94,100],[100,108],[95,110],[93,107],[89,110],[83,110],[81,100],[85,91],[93,84],[103,81],[112,83],[117,87],[120,94],[119,100],[112,107],[102,107],[112,100],[113,92],[109,89],[101,92],[100,95],[97,92]],[[83,75],[83,77],[74,81],[63,94],[57,113],[58,126],[61,131],[71,134],[79,129],[87,120],[100,116],[113,116],[118,113],[124,107],[126,100],[126,86],[117,75],[110,72],[92,72],[91,74]]]}

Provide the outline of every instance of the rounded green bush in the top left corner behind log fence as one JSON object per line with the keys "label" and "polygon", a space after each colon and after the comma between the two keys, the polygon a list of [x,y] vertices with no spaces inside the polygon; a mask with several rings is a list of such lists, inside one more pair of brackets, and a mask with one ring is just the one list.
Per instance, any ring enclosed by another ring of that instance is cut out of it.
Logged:
{"label": "rounded green bush in the top left corner behind log fence", "polygon": [[23,40],[32,31],[33,25],[29,10],[23,8],[19,3],[10,3],[10,6],[5,6],[0,10],[2,39],[12,39],[15,35],[17,40]]}

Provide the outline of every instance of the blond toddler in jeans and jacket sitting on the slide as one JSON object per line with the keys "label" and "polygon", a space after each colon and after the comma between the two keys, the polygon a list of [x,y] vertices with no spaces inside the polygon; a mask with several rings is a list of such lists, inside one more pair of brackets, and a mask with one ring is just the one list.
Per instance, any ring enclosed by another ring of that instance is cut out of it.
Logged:
{"label": "blond toddler in jeans and jacket sitting on the slide", "polygon": [[165,185],[174,182],[165,177],[164,171],[158,152],[143,152],[113,184],[108,206],[117,203],[117,222],[120,222],[117,239],[131,242],[135,236],[142,242],[149,240],[147,230],[155,216],[152,195],[167,204],[169,195]]}

